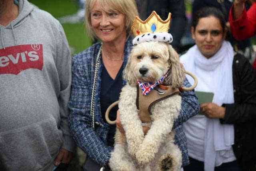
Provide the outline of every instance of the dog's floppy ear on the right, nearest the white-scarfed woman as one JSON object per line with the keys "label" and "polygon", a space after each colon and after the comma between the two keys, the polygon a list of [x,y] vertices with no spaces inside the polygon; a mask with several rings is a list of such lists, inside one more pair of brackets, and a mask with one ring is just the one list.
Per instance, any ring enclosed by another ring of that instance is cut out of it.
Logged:
{"label": "dog's floppy ear on the right, nearest the white-scarfed woman", "polygon": [[170,62],[170,74],[168,75],[168,82],[172,87],[180,87],[185,79],[185,70],[180,63],[178,53],[172,48],[172,45],[168,45],[169,62]]}

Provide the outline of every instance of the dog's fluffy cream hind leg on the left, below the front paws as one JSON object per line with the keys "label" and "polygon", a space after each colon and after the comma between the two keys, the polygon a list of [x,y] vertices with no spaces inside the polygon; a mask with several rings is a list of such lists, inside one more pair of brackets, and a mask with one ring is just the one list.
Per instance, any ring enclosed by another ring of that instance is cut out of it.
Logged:
{"label": "dog's fluffy cream hind leg on the left, below the front paws", "polygon": [[114,151],[111,152],[109,166],[112,171],[135,171],[136,168],[128,155],[125,142],[125,136],[116,129]]}

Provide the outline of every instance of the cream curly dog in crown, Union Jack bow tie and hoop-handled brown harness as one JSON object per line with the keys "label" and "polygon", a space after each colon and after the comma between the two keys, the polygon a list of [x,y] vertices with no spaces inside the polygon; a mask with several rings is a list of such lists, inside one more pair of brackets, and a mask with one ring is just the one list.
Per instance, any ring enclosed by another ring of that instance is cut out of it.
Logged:
{"label": "cream curly dog in crown, Union Jack bow tie and hoop-handled brown harness", "polygon": [[[133,22],[135,38],[123,76],[127,84],[122,88],[116,104],[125,135],[116,130],[114,151],[109,166],[112,171],[180,171],[181,151],[174,144],[174,120],[181,108],[180,90],[192,90],[196,78],[179,62],[168,33],[171,14],[163,21],[155,11],[145,20]],[[183,88],[185,73],[195,80],[190,88]],[[179,89],[178,89],[179,88]],[[150,129],[144,135],[142,126]]]}

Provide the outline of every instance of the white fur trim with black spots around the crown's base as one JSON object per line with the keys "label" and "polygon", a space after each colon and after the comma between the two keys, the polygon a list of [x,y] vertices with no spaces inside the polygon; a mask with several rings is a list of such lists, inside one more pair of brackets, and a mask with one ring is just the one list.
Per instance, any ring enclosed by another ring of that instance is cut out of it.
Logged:
{"label": "white fur trim with black spots around the crown's base", "polygon": [[169,44],[172,43],[172,35],[168,32],[145,33],[136,36],[133,39],[132,44],[138,45],[139,43],[143,43],[145,41],[161,41]]}

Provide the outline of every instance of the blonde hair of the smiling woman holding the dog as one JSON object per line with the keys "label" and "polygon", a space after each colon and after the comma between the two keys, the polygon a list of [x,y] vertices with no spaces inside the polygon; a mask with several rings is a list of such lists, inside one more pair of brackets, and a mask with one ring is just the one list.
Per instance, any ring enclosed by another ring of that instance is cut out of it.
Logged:
{"label": "blonde hair of the smiling woman holding the dog", "polygon": [[134,0],[86,0],[86,12],[84,16],[86,31],[91,39],[94,39],[96,36],[92,29],[91,22],[91,12],[95,2],[98,2],[100,6],[102,6],[103,10],[106,10],[106,7],[112,8],[112,10],[116,10],[125,16],[126,21],[126,32],[130,35],[132,22],[136,16],[138,16],[137,6]]}

